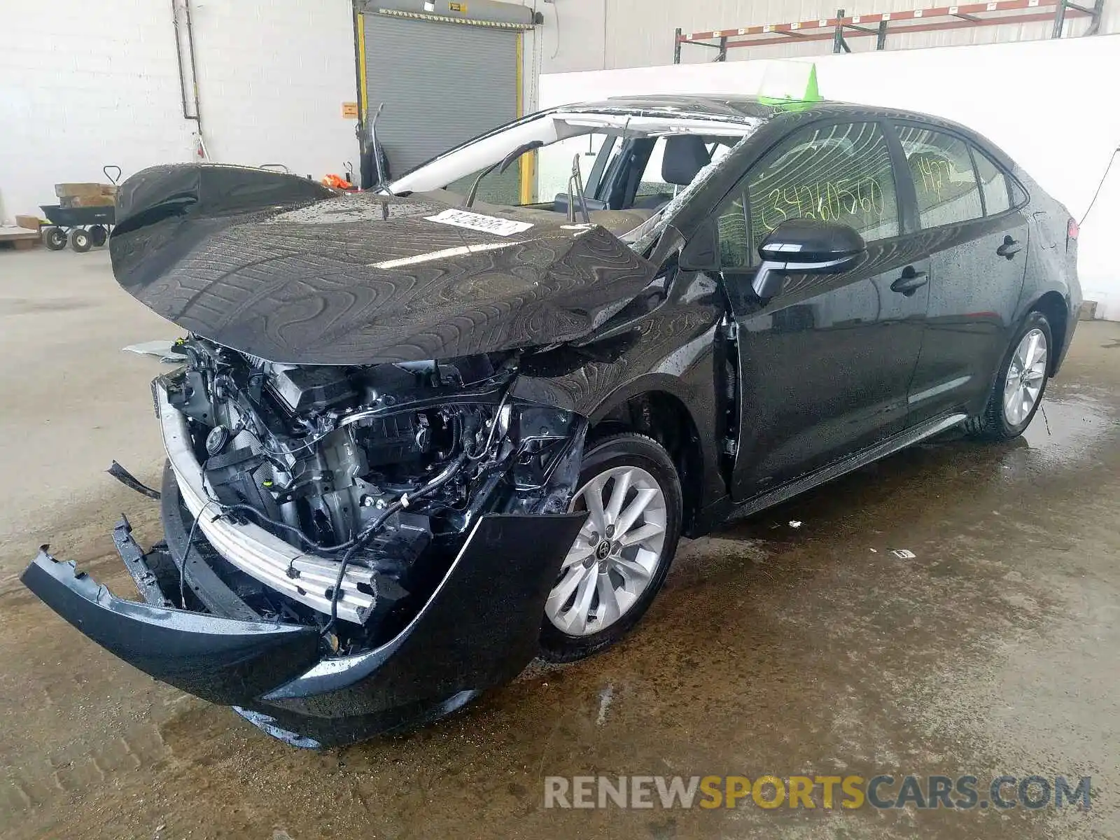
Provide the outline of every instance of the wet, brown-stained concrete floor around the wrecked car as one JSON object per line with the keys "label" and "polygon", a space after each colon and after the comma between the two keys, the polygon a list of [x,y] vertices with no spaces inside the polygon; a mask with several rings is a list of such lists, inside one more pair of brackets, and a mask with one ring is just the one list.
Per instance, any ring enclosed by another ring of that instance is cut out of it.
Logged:
{"label": "wet, brown-stained concrete floor around the wrecked car", "polygon": [[[1048,428],[923,446],[685,543],[619,647],[323,753],[153,682],[17,580],[49,541],[133,591],[109,532],[127,511],[153,541],[156,505],[100,470],[157,479],[159,364],[120,348],[175,335],[104,252],[0,253],[0,836],[1120,837],[1120,324],[1079,327]],[[1094,796],[1088,813],[541,808],[543,776],[592,773],[1091,775]]]}

